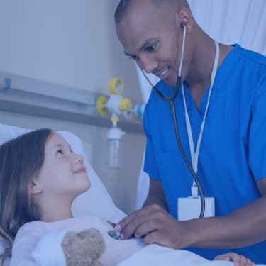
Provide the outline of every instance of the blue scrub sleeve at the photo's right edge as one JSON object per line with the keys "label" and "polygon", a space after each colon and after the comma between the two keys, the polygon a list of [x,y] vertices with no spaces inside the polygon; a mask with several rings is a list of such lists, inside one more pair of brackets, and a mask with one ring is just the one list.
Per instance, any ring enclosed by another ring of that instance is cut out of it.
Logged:
{"label": "blue scrub sleeve at the photo's right edge", "polygon": [[266,177],[266,75],[262,77],[253,100],[248,156],[255,180]]}

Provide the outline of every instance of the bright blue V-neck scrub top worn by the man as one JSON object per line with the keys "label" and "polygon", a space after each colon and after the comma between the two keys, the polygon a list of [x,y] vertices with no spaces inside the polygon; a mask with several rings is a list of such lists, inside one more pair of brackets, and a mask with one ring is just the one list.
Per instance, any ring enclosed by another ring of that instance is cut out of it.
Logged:
{"label": "bright blue V-neck scrub top worn by the man", "polygon": [[[184,87],[196,147],[209,90],[198,110],[185,82]],[[165,96],[173,92],[163,81],[157,89]],[[174,103],[182,145],[191,162],[181,93]],[[191,196],[193,179],[177,147],[170,106],[155,92],[145,107],[143,125],[147,136],[144,170],[162,182],[170,214],[177,218],[177,198]],[[235,45],[218,68],[197,175],[204,195],[215,198],[216,216],[260,198],[256,181],[266,177],[266,57]],[[209,259],[228,251],[189,250]],[[266,242],[233,251],[266,263]]]}

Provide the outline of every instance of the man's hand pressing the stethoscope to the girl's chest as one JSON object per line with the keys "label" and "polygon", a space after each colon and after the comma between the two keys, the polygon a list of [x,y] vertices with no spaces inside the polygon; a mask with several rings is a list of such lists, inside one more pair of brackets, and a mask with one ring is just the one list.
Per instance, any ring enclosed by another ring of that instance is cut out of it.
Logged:
{"label": "man's hand pressing the stethoscope to the girl's chest", "polygon": [[177,221],[159,205],[153,204],[134,211],[115,227],[121,239],[143,238],[146,244],[158,243],[169,248],[184,248],[192,243],[192,233],[187,223]]}

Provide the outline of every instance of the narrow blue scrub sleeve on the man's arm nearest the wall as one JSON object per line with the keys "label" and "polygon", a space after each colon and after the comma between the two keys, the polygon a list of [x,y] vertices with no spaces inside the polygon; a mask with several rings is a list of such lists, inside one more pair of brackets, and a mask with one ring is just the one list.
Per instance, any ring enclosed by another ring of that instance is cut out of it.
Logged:
{"label": "narrow blue scrub sleeve on the man's arm nearest the wall", "polygon": [[151,179],[160,180],[160,174],[157,169],[157,163],[155,159],[155,149],[153,143],[153,136],[150,132],[149,126],[149,106],[145,107],[143,114],[143,128],[146,135],[146,149],[145,149],[145,160],[143,170],[149,175]]}

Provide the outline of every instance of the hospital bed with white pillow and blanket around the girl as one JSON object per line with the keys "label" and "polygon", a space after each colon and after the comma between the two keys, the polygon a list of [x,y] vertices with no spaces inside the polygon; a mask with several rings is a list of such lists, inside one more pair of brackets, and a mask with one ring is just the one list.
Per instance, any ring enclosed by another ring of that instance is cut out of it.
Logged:
{"label": "hospital bed with white pillow and blanket around the girl", "polygon": [[[16,126],[9,126],[0,124],[0,145],[11,138],[16,138],[18,135],[30,131],[26,128],[18,128]],[[60,133],[68,143],[70,143],[74,153],[79,153],[84,156],[84,164],[87,167],[89,179],[91,180],[91,189],[75,199],[72,205],[72,213],[75,217],[85,215],[101,216],[114,222],[118,222],[125,216],[123,211],[118,209],[113,203],[111,196],[107,192],[104,184],[101,182],[96,172],[92,169],[87,160],[87,155],[84,153],[82,140],[69,131],[57,131]],[[5,248],[5,243],[0,239],[0,252]],[[6,262],[4,266],[8,266]],[[194,253],[186,250],[173,250],[165,248],[160,245],[148,245],[139,250],[131,257],[128,257],[119,266],[133,266],[133,265],[182,265],[182,266],[230,266],[232,262],[225,261],[210,261],[203,257],[199,257]],[[58,265],[61,266],[61,265]]]}

